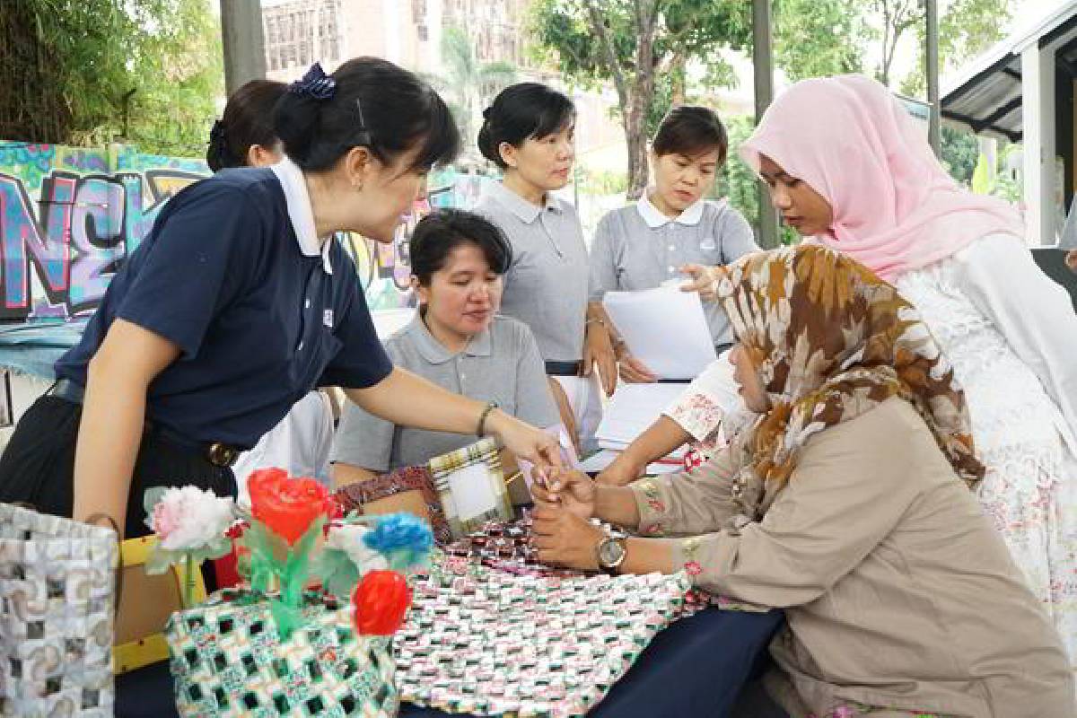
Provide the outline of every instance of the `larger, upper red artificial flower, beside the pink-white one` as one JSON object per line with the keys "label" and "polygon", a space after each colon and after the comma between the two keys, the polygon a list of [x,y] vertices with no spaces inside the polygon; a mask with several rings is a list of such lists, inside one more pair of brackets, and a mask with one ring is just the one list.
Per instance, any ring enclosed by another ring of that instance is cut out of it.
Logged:
{"label": "larger, upper red artificial flower, beside the pink-white one", "polygon": [[289,546],[331,510],[330,492],[310,478],[293,479],[280,468],[262,468],[247,479],[251,513]]}

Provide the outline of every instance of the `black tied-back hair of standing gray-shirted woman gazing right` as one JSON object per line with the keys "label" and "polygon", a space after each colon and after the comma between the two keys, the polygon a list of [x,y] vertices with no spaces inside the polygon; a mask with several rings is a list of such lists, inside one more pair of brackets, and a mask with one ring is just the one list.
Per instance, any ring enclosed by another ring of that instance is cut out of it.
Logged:
{"label": "black tied-back hair of standing gray-shirted woman gazing right", "polygon": [[507,142],[518,147],[526,140],[559,132],[576,117],[576,107],[564,93],[536,82],[509,85],[482,112],[486,118],[478,132],[482,156],[504,169],[499,147]]}

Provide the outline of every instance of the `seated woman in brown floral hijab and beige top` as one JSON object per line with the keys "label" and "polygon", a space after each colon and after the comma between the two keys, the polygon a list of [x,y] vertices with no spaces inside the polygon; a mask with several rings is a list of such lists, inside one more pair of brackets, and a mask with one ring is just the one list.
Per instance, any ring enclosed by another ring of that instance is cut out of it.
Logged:
{"label": "seated woman in brown floral hijab and beige top", "polygon": [[[757,419],[691,474],[535,489],[540,558],[784,608],[765,682],[793,716],[1077,715],[1061,640],[968,490],[964,394],[913,307],[819,245],[745,257],[717,295]],[[677,537],[607,538],[591,516]]]}

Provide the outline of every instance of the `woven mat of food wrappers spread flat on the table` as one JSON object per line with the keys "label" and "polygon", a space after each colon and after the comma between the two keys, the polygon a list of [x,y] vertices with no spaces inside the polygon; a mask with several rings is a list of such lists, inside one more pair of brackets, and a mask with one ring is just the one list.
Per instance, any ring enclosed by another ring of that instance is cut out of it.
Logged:
{"label": "woven mat of food wrappers spread flat on the table", "polygon": [[[449,713],[583,716],[652,638],[708,605],[684,573],[588,575],[537,562],[527,518],[445,547],[394,638],[401,700]],[[761,610],[761,609],[760,609]]]}

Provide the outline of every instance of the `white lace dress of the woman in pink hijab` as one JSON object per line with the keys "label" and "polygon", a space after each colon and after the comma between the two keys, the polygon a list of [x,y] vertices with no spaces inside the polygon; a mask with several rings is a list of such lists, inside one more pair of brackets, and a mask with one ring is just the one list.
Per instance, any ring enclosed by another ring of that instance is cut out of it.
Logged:
{"label": "white lace dress of the woman in pink hijab", "polygon": [[953,364],[988,467],[980,501],[1077,665],[1077,316],[1069,297],[1003,235],[895,284]]}

